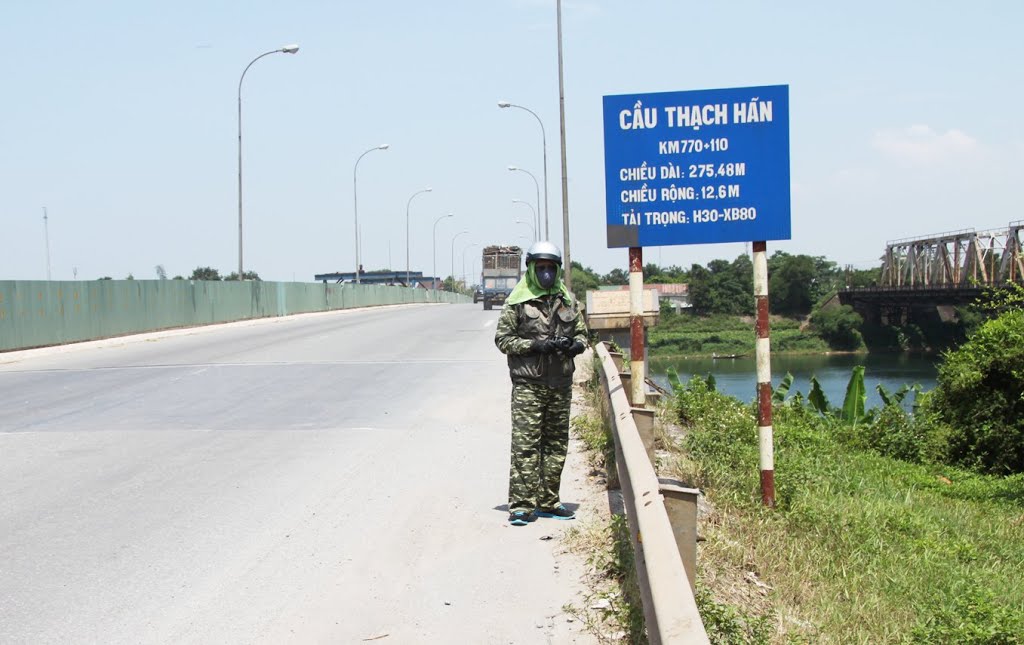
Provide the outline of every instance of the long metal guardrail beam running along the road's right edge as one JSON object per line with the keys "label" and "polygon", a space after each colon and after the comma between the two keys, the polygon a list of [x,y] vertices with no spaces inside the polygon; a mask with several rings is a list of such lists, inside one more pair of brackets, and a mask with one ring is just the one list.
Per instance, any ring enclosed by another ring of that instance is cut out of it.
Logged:
{"label": "long metal guardrail beam running along the road's right edge", "polygon": [[647,638],[652,645],[710,643],[677,546],[678,531],[669,519],[663,485],[633,419],[634,408],[627,397],[627,388],[604,344],[598,343],[596,350],[615,441],[615,468],[626,503]]}

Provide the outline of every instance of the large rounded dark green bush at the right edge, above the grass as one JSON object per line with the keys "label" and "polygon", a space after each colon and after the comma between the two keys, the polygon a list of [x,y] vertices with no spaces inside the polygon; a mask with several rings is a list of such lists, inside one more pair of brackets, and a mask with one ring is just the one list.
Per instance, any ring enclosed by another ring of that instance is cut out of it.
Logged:
{"label": "large rounded dark green bush at the right edge, above the grass", "polygon": [[985,322],[945,354],[934,410],[953,428],[953,463],[993,474],[1024,472],[1024,310]]}

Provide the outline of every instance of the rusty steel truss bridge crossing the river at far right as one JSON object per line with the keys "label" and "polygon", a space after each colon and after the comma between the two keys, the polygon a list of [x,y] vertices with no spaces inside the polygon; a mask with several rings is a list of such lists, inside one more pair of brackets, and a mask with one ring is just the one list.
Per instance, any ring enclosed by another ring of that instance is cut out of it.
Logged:
{"label": "rusty steel truss bridge crossing the river at far right", "polygon": [[985,289],[1024,283],[1022,230],[1024,220],[1018,220],[1006,228],[888,242],[879,285],[844,289],[840,302],[872,322],[906,322],[936,313],[950,319],[954,306],[974,302]]}

